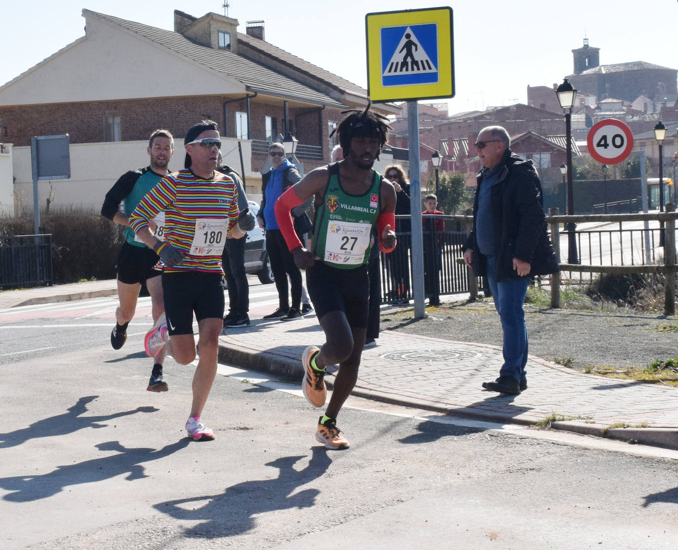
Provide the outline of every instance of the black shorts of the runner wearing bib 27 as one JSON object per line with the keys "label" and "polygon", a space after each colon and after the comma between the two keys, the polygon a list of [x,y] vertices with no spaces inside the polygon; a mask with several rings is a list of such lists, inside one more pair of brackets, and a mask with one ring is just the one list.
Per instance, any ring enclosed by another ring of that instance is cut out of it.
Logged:
{"label": "black shorts of the runner wearing bib 27", "polygon": [[367,266],[341,270],[316,261],[306,270],[306,288],[320,320],[329,312],[344,312],[351,329],[367,329],[370,279]]}

